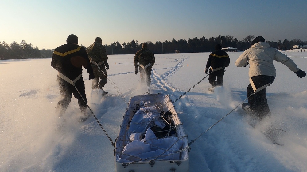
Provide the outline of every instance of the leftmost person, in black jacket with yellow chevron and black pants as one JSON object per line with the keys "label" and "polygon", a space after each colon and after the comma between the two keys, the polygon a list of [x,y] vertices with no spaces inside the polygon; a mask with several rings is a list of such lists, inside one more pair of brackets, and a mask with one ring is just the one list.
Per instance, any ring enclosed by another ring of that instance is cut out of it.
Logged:
{"label": "leftmost person, in black jacket with yellow chevron and black pants", "polygon": [[90,64],[90,60],[84,47],[78,45],[78,37],[69,35],[67,44],[57,47],[51,60],[51,66],[59,71],[57,83],[59,84],[62,99],[57,104],[57,111],[63,115],[72,99],[72,94],[78,99],[79,109],[84,116],[79,118],[83,122],[89,118],[86,113],[87,99],[82,78],[82,66],[89,73],[89,79],[94,79],[95,75]]}

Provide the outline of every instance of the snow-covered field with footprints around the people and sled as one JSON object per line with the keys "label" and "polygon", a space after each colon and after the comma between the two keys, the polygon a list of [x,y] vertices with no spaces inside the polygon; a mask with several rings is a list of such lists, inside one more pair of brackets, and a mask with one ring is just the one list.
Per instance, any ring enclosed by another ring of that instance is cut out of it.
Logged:
{"label": "snow-covered field with footprints around the people and sled", "polygon": [[[307,52],[283,53],[307,71]],[[150,93],[163,92],[177,99],[206,76],[209,54],[155,54]],[[188,140],[246,99],[248,67],[234,65],[242,52],[228,54],[231,62],[222,88],[208,91],[207,77],[174,103]],[[134,54],[108,57],[108,76],[127,102],[148,92],[134,74]],[[60,92],[57,71],[50,63],[51,58],[0,61],[0,171],[114,171],[114,147],[94,117],[77,123],[80,112],[74,97],[63,117],[66,123],[56,116]],[[298,78],[279,62],[274,65],[277,76],[267,87],[271,118],[253,128],[241,106],[236,108],[191,145],[191,172],[307,171],[307,78]],[[105,86],[109,94],[101,97],[91,90],[86,70],[83,78],[89,107],[115,141],[125,101],[110,81]],[[283,146],[262,134],[266,123],[286,131],[278,138]],[[62,132],[56,130],[61,124],[65,124]]]}

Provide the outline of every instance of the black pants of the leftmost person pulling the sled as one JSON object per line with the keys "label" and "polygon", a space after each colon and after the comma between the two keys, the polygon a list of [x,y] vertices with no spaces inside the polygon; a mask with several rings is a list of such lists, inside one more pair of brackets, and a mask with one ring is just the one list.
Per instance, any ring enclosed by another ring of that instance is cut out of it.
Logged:
{"label": "black pants of the leftmost person pulling the sled", "polygon": [[75,96],[76,99],[78,99],[79,109],[83,114],[86,114],[86,108],[87,108],[87,99],[85,97],[85,87],[83,78],[81,77],[76,83],[75,86],[79,90],[80,94],[86,101],[82,99],[81,95],[78,93],[77,89],[67,81],[63,80],[61,77],[57,76],[57,83],[59,84],[60,93],[62,96],[62,99],[58,102],[56,109],[58,110],[60,115],[63,115],[72,99],[72,94]]}

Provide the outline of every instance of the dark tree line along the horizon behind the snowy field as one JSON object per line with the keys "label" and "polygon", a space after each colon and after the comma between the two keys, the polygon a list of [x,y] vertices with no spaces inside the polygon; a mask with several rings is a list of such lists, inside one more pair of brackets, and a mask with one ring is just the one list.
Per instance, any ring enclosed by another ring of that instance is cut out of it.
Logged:
{"label": "dark tree line along the horizon behind the snowy field", "polygon": [[[200,53],[200,52],[212,52],[216,44],[221,44],[223,47],[234,47],[240,51],[244,51],[251,47],[251,41],[255,38],[254,35],[248,35],[242,41],[234,38],[231,35],[211,37],[209,39],[204,36],[200,39],[197,37],[193,39],[180,39],[171,41],[165,40],[164,42],[156,41],[152,43],[148,41],[148,49],[150,49],[154,54],[162,53],[175,53],[178,50],[181,53]],[[293,39],[289,41],[284,39],[283,41],[278,40],[266,41],[271,47],[283,50],[289,50],[294,45],[307,44],[307,41],[303,42],[300,39]],[[142,49],[143,43],[138,43],[138,41],[132,40],[128,43],[113,42],[110,45],[105,44],[107,49],[107,54],[135,54],[138,50]],[[81,46],[83,46],[81,44]],[[85,46],[83,46],[85,47]],[[86,48],[86,47],[85,47]],[[31,43],[26,43],[24,40],[18,44],[16,41],[10,45],[6,42],[0,42],[0,60],[4,59],[23,59],[23,58],[50,58],[52,57],[54,49],[42,49],[39,50],[38,47],[33,47]]]}

